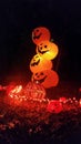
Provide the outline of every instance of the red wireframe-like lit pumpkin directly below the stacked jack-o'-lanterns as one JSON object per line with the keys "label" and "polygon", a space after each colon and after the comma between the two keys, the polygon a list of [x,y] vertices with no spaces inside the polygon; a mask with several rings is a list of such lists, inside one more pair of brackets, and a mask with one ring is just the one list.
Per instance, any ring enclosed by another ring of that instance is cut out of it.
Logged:
{"label": "red wireframe-like lit pumpkin directly below the stacked jack-o'-lanterns", "polygon": [[45,96],[44,88],[39,83],[29,82],[24,89],[28,99],[42,100]]}

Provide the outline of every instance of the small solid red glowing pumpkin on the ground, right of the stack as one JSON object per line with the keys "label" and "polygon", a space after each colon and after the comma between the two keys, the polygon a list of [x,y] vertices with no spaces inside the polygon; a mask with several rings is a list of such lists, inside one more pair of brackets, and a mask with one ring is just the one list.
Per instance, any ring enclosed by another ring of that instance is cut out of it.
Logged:
{"label": "small solid red glowing pumpkin on the ground, right of the stack", "polygon": [[63,107],[62,107],[62,104],[58,100],[51,100],[48,103],[47,110],[49,112],[60,113],[63,110]]}

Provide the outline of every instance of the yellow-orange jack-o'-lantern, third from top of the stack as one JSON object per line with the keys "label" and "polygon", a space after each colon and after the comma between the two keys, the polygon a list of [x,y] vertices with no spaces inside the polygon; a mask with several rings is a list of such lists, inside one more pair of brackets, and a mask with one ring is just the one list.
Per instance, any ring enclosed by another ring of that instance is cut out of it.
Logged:
{"label": "yellow-orange jack-o'-lantern, third from top of the stack", "polygon": [[33,73],[52,69],[52,61],[45,60],[39,54],[36,54],[30,61],[30,70]]}

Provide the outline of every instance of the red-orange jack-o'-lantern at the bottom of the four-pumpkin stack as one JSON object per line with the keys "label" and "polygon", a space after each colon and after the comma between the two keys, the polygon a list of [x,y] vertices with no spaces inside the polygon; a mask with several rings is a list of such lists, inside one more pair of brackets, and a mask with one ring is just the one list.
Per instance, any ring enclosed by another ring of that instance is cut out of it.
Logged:
{"label": "red-orange jack-o'-lantern at the bottom of the four-pumpkin stack", "polygon": [[59,83],[59,75],[53,70],[45,70],[45,71],[33,73],[31,80],[33,82],[38,81],[45,89],[48,89],[48,88],[58,85],[58,83]]}

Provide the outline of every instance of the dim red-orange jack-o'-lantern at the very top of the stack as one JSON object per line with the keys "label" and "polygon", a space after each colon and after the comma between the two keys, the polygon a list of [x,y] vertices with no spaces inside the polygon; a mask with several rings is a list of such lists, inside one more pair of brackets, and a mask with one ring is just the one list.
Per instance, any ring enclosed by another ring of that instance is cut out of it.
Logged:
{"label": "dim red-orange jack-o'-lantern at the very top of the stack", "polygon": [[32,41],[33,43],[38,44],[43,40],[50,40],[50,31],[44,27],[36,28],[32,31]]}

